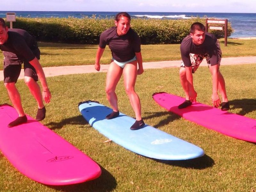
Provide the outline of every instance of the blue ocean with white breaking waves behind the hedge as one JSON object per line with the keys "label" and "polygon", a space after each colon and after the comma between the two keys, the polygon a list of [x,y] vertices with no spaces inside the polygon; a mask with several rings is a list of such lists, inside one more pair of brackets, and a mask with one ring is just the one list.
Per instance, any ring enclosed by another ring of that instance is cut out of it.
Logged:
{"label": "blue ocean with white breaking waves behind the hedge", "polygon": [[[47,11],[0,11],[0,17],[6,12],[15,12],[19,17],[100,17],[113,18],[118,12],[47,12]],[[133,18],[154,19],[190,19],[191,17],[208,17],[215,19],[228,19],[235,30],[231,38],[256,37],[256,13],[196,13],[196,12],[128,12]]]}

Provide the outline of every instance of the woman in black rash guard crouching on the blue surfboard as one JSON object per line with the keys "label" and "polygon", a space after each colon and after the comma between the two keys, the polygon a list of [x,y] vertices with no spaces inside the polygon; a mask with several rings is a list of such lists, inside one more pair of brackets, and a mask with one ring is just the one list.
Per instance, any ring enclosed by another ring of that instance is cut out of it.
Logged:
{"label": "woman in black rash guard crouching on the blue surfboard", "polygon": [[106,119],[113,119],[119,116],[115,89],[123,74],[125,92],[136,115],[136,121],[131,126],[131,130],[138,130],[145,123],[141,118],[140,98],[135,92],[134,86],[137,75],[142,74],[144,70],[140,52],[140,37],[130,28],[130,22],[130,15],[126,12],[120,12],[116,15],[115,27],[102,32],[96,54],[95,69],[97,71],[100,70],[100,58],[106,45],[108,45],[111,50],[112,60],[107,73],[106,93],[113,112],[106,116]]}

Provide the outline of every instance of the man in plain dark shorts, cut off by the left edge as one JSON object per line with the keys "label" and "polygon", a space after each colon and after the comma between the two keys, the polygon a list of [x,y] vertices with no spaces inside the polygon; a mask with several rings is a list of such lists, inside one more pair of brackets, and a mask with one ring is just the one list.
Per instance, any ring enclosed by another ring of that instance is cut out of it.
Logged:
{"label": "man in plain dark shorts, cut off by the left edge", "polygon": [[[51,92],[47,86],[43,68],[38,61],[40,51],[35,39],[22,29],[8,29],[4,19],[0,18],[0,49],[4,54],[4,85],[13,107],[19,115],[17,119],[8,124],[8,127],[27,122],[27,117],[21,105],[20,94],[15,86],[22,63],[24,63],[25,83],[38,105],[36,120],[43,120],[46,113],[43,99],[46,103],[49,103]],[[36,83],[38,78],[43,88],[43,94],[41,94],[40,87]]]}

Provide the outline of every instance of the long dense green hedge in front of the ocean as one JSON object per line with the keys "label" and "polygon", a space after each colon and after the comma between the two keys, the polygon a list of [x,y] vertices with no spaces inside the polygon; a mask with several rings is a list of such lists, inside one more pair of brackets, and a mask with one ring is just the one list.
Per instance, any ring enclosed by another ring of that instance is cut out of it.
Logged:
{"label": "long dense green hedge in front of the ocean", "polygon": [[[132,19],[132,28],[138,33],[142,44],[180,43],[189,34],[194,22],[205,23],[205,19],[186,20]],[[114,26],[114,19],[99,18],[22,18],[18,17],[13,28],[27,30],[38,41],[63,43],[98,44],[100,34]],[[218,37],[224,31],[210,31]],[[228,36],[233,29],[228,23]]]}

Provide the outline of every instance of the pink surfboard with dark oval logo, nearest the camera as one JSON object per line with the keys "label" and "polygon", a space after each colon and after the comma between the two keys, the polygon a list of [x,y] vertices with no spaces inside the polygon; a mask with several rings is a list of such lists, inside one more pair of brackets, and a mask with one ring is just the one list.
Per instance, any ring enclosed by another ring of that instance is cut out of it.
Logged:
{"label": "pink surfboard with dark oval logo, nearest the camera", "polygon": [[46,185],[82,183],[100,176],[97,163],[30,116],[26,124],[7,127],[17,117],[12,106],[0,105],[0,150],[22,174]]}

